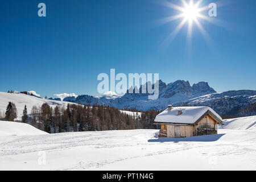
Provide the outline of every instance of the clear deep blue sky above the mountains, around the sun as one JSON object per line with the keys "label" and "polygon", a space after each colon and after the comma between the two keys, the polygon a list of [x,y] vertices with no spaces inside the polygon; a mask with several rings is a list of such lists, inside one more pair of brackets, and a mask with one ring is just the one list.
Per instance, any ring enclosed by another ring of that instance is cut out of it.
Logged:
{"label": "clear deep blue sky above the mountains, around the sun", "polygon": [[[47,6],[45,18],[38,16],[40,2]],[[97,76],[110,68],[159,73],[164,82],[207,81],[217,92],[256,90],[255,0],[203,1],[217,2],[213,19],[221,26],[199,19],[212,44],[193,26],[190,48],[187,24],[163,47],[181,20],[159,25],[177,14],[162,2],[1,1],[0,90],[98,95]]]}

